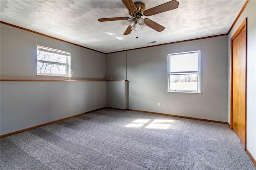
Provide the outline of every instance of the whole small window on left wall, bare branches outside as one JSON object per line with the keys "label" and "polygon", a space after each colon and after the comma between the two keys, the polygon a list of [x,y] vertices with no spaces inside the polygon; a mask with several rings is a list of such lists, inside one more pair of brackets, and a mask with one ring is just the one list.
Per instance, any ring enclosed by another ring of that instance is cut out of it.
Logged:
{"label": "whole small window on left wall, bare branches outside", "polygon": [[37,46],[37,75],[70,76],[70,53]]}

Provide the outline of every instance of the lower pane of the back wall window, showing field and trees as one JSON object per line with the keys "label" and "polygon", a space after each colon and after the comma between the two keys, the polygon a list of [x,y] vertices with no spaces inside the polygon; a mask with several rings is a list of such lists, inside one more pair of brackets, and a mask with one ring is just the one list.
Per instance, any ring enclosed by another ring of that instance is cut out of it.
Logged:
{"label": "lower pane of the back wall window, showing field and trees", "polygon": [[198,90],[198,74],[174,74],[170,75],[170,90]]}

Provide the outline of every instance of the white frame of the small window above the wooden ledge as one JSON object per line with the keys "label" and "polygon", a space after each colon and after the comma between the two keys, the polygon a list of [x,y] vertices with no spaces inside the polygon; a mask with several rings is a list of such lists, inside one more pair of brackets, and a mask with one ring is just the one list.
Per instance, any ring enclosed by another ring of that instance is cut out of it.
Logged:
{"label": "white frame of the small window above the wooden ledge", "polygon": [[66,74],[55,74],[55,73],[38,73],[38,69],[36,71],[36,75],[45,75],[45,76],[58,76],[58,77],[71,77],[71,66],[70,66],[70,59],[71,59],[71,53],[66,51],[61,51],[58,49],[53,49],[49,47],[44,47],[42,45],[36,46],[36,55],[38,53],[38,50],[40,51],[47,51],[49,53],[58,53],[61,55],[66,56],[66,62],[54,62],[54,61],[46,61],[46,60],[39,60],[38,57],[36,57],[36,63],[38,65],[38,62],[40,63],[48,63],[48,64],[56,64],[56,65],[65,65],[66,66]]}

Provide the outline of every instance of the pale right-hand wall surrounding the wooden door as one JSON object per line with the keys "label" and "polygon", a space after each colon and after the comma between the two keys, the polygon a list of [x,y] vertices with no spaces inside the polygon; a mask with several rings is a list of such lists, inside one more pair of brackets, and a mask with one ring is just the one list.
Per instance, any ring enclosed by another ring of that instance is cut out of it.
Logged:
{"label": "pale right-hand wall surrounding the wooden door", "polygon": [[[256,159],[256,1],[251,0],[246,6],[244,12],[239,17],[228,35],[228,47],[230,39],[247,18],[247,99],[246,99],[246,133],[247,149]],[[230,123],[230,73],[231,58],[230,48],[228,48],[228,122]]]}

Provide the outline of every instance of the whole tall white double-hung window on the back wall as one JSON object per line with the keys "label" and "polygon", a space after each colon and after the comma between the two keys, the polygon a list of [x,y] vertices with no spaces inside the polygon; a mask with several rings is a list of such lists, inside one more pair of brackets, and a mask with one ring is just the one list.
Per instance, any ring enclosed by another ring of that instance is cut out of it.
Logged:
{"label": "whole tall white double-hung window on the back wall", "polygon": [[200,93],[200,51],[168,54],[168,92]]}

